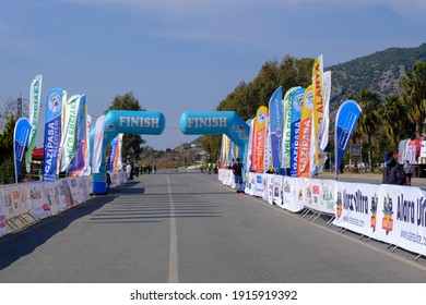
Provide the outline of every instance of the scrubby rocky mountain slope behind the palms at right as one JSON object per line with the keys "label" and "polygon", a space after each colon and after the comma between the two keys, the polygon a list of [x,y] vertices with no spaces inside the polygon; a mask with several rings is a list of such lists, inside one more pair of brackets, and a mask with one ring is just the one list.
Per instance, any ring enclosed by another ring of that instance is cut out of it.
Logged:
{"label": "scrubby rocky mountain slope behind the palms at right", "polygon": [[377,93],[382,98],[399,95],[399,81],[411,73],[416,61],[426,61],[426,44],[417,48],[389,48],[326,68],[324,71],[331,71],[330,109],[362,90]]}

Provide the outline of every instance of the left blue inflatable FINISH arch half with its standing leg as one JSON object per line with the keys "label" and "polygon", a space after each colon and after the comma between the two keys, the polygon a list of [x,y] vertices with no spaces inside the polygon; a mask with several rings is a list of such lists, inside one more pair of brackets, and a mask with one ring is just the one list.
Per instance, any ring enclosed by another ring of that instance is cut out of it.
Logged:
{"label": "left blue inflatable FINISH arch half with its standing leg", "polygon": [[[92,173],[93,193],[106,194],[108,185],[106,182],[106,151],[105,147],[119,134],[149,134],[159,135],[166,125],[164,114],[154,111],[111,110],[105,114],[105,129],[103,141],[102,163],[98,173]],[[91,129],[91,148],[95,138],[95,125]]]}

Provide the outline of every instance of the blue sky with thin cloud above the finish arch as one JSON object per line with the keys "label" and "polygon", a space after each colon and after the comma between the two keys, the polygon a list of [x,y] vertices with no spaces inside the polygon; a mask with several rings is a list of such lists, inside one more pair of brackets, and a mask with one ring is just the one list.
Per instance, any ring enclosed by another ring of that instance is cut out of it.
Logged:
{"label": "blue sky with thin cloud above the finish arch", "polygon": [[182,112],[214,110],[264,62],[417,47],[425,15],[425,0],[1,0],[0,106],[28,98],[36,74],[43,101],[55,86],[85,93],[93,117],[132,90],[166,117],[147,145],[174,148],[197,137],[181,134]]}

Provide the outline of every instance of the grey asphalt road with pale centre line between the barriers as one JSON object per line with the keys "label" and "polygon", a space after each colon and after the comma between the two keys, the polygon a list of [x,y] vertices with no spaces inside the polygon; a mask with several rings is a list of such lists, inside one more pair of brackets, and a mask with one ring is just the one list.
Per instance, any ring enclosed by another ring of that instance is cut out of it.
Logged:
{"label": "grey asphalt road with pale centre line between the barriers", "polygon": [[425,283],[414,257],[163,171],[1,237],[0,282]]}

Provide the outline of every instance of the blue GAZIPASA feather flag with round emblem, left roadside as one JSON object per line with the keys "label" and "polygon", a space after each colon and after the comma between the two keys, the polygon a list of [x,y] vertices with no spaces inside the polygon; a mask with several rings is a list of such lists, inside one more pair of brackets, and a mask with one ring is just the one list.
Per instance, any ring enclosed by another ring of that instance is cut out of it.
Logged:
{"label": "blue GAZIPASA feather flag with round emblem, left roadside", "polygon": [[44,141],[43,180],[55,181],[61,139],[62,88],[52,88],[47,95]]}

